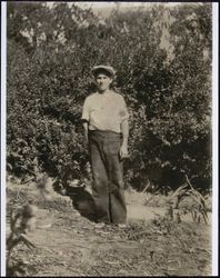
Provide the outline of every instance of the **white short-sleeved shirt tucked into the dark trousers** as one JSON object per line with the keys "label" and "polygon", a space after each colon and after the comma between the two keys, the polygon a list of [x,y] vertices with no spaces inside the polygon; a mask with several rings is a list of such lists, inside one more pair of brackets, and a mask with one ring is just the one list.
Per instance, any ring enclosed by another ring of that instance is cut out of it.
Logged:
{"label": "white short-sleeved shirt tucked into the dark trousers", "polygon": [[82,119],[89,122],[89,130],[110,130],[120,133],[121,122],[128,118],[126,101],[117,92],[94,92],[84,101]]}

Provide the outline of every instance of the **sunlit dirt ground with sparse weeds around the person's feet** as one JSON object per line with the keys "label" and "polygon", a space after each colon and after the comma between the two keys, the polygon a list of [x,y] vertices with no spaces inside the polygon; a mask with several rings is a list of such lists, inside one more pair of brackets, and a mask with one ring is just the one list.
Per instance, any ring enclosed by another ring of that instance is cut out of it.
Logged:
{"label": "sunlit dirt ground with sparse weeds around the person's feet", "polygon": [[194,222],[190,214],[181,222],[168,220],[164,203],[149,206],[146,195],[127,191],[127,228],[98,229],[83,193],[53,191],[46,199],[31,185],[7,186],[7,235],[12,210],[29,199],[38,206],[37,227],[28,235],[36,248],[20,244],[11,254],[11,266],[24,265],[22,276],[211,275],[210,222]]}

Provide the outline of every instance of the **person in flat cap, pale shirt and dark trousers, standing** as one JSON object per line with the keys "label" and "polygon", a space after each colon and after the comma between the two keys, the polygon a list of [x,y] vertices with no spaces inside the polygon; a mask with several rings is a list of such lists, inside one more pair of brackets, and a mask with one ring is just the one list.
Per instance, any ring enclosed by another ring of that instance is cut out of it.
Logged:
{"label": "person in flat cap, pale shirt and dark trousers, standing", "polygon": [[110,89],[113,68],[97,66],[92,75],[98,90],[86,99],[82,120],[91,158],[97,222],[123,227],[127,208],[122,159],[128,157],[129,115],[123,97]]}

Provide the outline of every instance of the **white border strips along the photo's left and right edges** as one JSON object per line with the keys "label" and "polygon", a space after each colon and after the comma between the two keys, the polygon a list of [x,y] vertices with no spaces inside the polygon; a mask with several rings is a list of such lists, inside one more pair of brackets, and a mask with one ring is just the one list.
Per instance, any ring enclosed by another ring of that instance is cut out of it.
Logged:
{"label": "white border strips along the photo's left and right edges", "polygon": [[[146,1],[148,2],[148,1]],[[158,1],[159,2],[159,1]],[[162,1],[161,1],[162,2]],[[219,3],[212,2],[212,276],[219,259]],[[1,2],[1,277],[6,277],[7,1]]]}

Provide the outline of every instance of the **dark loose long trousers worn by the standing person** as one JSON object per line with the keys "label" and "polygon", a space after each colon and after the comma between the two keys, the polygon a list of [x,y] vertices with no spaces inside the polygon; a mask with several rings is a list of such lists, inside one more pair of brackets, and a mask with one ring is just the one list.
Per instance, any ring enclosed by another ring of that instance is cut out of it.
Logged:
{"label": "dark loose long trousers worn by the standing person", "polygon": [[98,222],[124,224],[127,219],[123,165],[119,157],[121,142],[121,135],[116,132],[89,132],[92,196]]}

